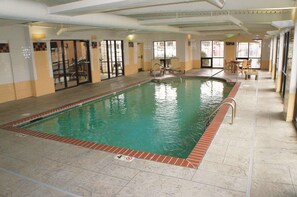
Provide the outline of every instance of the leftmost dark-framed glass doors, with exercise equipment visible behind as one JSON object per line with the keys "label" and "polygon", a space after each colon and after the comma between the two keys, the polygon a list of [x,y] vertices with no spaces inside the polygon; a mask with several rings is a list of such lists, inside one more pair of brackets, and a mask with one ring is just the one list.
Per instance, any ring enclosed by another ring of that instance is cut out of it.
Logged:
{"label": "leftmost dark-framed glass doors, with exercise equipment visible behind", "polygon": [[55,90],[91,81],[89,42],[52,40],[51,59]]}

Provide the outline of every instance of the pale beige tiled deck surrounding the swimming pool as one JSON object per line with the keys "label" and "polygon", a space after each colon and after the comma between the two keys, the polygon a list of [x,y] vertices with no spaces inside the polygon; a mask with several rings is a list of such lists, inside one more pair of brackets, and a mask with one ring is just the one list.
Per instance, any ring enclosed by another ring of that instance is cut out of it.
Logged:
{"label": "pale beige tiled deck surrounding the swimming pool", "polygon": [[[192,70],[211,75],[217,70]],[[297,134],[283,121],[268,72],[242,82],[198,169],[115,154],[0,129],[0,196],[297,196]],[[0,125],[149,79],[148,73],[0,104]],[[230,113],[230,112],[229,112]]]}

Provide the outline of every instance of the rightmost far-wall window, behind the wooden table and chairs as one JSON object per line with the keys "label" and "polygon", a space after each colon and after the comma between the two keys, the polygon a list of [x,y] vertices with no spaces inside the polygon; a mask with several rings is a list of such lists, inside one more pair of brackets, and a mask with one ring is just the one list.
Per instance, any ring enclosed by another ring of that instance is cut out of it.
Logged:
{"label": "rightmost far-wall window, behind the wooden table and chairs", "polygon": [[251,67],[261,67],[262,40],[255,42],[238,42],[236,47],[236,59],[250,59]]}

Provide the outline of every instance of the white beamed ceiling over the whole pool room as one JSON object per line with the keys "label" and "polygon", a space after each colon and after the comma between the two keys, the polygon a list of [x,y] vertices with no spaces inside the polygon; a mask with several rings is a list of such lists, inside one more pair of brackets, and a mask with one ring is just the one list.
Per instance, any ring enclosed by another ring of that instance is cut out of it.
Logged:
{"label": "white beamed ceiling over the whole pool room", "polygon": [[[1,6],[0,0],[0,6]],[[18,0],[10,0],[18,1]],[[21,0],[19,0],[21,1]],[[33,1],[46,6],[49,15],[76,17],[90,14],[111,14],[137,20],[142,26],[170,26],[182,32],[197,34],[215,34],[247,32],[259,34],[277,30],[273,21],[291,19],[295,0],[226,0],[222,9],[205,0],[22,0]],[[13,8],[11,8],[13,9]],[[34,10],[32,10],[34,12]],[[95,15],[93,15],[95,16]],[[12,21],[0,16],[0,25],[12,24]],[[15,19],[15,18],[14,18]],[[53,23],[32,23],[35,26],[53,26]],[[48,21],[47,21],[48,22]],[[60,26],[61,24],[57,24]],[[64,25],[67,25],[66,23]],[[72,24],[73,25],[73,24]],[[80,26],[83,24],[80,24]],[[89,24],[86,24],[89,25]],[[110,29],[112,24],[105,25]],[[86,27],[88,28],[88,27]],[[104,28],[104,26],[100,26]],[[124,29],[123,26],[120,29]],[[127,24],[127,29],[131,29]],[[137,29],[136,29],[137,30]]]}

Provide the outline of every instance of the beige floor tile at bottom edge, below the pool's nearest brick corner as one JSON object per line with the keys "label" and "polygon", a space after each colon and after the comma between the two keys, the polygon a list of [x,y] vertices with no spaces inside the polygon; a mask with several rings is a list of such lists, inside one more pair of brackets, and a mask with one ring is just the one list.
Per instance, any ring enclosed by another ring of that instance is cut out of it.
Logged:
{"label": "beige floor tile at bottom edge, below the pool's nearest brick corner", "polygon": [[203,185],[182,179],[141,172],[121,190],[124,196],[244,196],[244,193]]}

